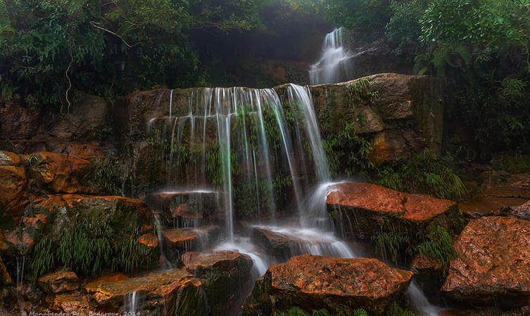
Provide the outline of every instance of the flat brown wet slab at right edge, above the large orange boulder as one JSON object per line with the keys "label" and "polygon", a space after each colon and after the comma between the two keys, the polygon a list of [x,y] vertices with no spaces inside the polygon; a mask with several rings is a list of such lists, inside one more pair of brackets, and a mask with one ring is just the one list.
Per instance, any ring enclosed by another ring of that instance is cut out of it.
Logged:
{"label": "flat brown wet slab at right edge, above the large orange boulder", "polygon": [[519,206],[530,199],[530,188],[519,185],[491,187],[459,204],[462,213],[468,218],[500,215],[504,209]]}

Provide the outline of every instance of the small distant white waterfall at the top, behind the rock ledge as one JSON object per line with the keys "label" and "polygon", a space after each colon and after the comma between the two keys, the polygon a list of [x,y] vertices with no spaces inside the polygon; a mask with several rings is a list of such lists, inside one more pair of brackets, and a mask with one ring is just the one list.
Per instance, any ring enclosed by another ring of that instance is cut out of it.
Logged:
{"label": "small distant white waterfall at the top, behind the rock ledge", "polygon": [[324,38],[322,57],[311,65],[309,79],[314,84],[334,84],[351,79],[351,55],[343,46],[343,28],[334,29]]}

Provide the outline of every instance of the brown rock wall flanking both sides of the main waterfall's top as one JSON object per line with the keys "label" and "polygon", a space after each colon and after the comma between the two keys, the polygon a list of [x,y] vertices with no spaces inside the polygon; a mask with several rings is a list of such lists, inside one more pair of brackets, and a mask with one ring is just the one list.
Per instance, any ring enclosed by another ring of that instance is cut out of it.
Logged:
{"label": "brown rock wall flanking both sides of the main waterfall's top", "polygon": [[[310,86],[317,121],[323,136],[339,133],[343,125],[358,121],[358,133],[366,134],[374,143],[374,160],[405,157],[412,152],[441,150],[443,135],[443,84],[440,79],[405,74],[374,74],[370,81],[377,98],[372,104],[353,104],[351,86],[361,79],[339,84]],[[203,88],[158,89],[133,93],[115,102],[113,131],[122,142],[146,139],[149,121],[189,112],[189,98],[200,95]],[[286,98],[286,85],[274,89],[280,98]]]}

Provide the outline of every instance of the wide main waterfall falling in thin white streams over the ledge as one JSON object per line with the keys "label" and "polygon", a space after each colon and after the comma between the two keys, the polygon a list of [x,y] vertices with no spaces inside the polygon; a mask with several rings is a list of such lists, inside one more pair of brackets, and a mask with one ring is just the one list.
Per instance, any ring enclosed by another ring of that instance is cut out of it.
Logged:
{"label": "wide main waterfall falling in thin white streams over the ledge", "polygon": [[[326,41],[343,51],[341,31],[334,33]],[[148,124],[151,133],[161,128],[160,134],[170,138],[165,139],[171,151],[166,162],[166,189],[172,192],[160,195],[201,190],[219,195],[220,209],[225,212],[224,240],[215,243],[201,239],[201,248],[247,254],[254,263],[253,278],[284,258],[267,256],[253,239],[236,231],[235,218],[241,214],[255,219],[254,224],[245,224],[247,229],[266,230],[294,241],[291,256],[358,255],[332,234],[326,199],[336,189],[330,179],[310,91],[289,84],[284,96],[282,103],[274,89],[198,88],[189,95],[187,109],[179,109],[173,106],[171,93],[170,116]],[[183,160],[191,154],[194,159]],[[185,174],[179,174],[179,169]],[[182,190],[174,192],[175,187]],[[277,212],[298,216],[278,220]],[[196,221],[182,223],[198,225]],[[417,291],[413,287],[409,295],[416,297]]]}

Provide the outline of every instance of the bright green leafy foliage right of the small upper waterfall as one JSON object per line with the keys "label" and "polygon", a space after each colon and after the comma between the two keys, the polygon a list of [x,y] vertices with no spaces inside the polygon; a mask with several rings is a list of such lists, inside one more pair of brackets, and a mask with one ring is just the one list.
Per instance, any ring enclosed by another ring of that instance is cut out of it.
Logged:
{"label": "bright green leafy foliage right of the small upper waterfall", "polygon": [[384,32],[416,72],[445,78],[448,121],[468,126],[481,150],[529,150],[529,0],[324,3],[357,38]]}

